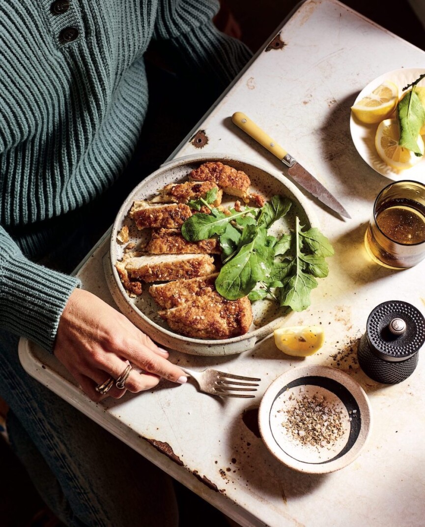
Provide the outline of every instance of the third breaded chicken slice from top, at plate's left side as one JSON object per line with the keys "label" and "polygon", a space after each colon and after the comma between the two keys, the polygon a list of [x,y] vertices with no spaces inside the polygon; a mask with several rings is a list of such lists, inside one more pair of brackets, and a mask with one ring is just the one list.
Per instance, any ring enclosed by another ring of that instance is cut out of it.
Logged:
{"label": "third breaded chicken slice from top, at plate's left side", "polygon": [[148,201],[135,201],[129,212],[138,229],[178,229],[191,215],[190,207],[183,203],[160,205]]}

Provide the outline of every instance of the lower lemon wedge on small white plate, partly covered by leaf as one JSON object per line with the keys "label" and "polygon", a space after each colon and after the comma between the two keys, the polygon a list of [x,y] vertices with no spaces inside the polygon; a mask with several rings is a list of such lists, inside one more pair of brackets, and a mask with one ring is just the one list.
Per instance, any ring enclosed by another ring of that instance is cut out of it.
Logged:
{"label": "lower lemon wedge on small white plate, partly covered by leaf", "polygon": [[[379,157],[384,163],[396,170],[406,170],[413,167],[422,159],[407,148],[398,144],[400,137],[399,125],[396,119],[385,119],[382,121],[375,135],[375,147]],[[418,135],[418,147],[422,155],[425,145],[421,135]]]}

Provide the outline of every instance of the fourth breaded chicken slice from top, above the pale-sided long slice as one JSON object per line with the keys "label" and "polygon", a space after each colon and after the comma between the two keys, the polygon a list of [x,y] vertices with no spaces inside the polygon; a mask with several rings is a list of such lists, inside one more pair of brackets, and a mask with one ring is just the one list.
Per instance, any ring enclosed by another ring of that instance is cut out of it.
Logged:
{"label": "fourth breaded chicken slice from top, above the pale-sided long slice", "polygon": [[187,241],[179,229],[153,230],[146,250],[154,255],[184,253],[219,255],[221,253],[218,238]]}

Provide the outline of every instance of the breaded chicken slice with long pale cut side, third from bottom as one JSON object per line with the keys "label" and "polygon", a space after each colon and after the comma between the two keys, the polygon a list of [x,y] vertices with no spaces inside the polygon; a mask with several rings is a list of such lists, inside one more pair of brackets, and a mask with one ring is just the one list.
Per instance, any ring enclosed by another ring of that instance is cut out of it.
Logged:
{"label": "breaded chicken slice with long pale cut side, third from bottom", "polygon": [[208,255],[125,255],[116,268],[124,281],[166,282],[210,275],[216,271],[214,259]]}

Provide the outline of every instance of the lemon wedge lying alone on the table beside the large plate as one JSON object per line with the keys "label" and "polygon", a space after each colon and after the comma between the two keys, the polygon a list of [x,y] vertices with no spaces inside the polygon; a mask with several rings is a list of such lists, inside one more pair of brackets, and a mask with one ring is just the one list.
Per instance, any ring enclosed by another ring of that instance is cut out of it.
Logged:
{"label": "lemon wedge lying alone on the table beside the large plate", "polygon": [[276,329],[275,344],[293,357],[308,357],[323,346],[325,332],[320,326],[292,326]]}

